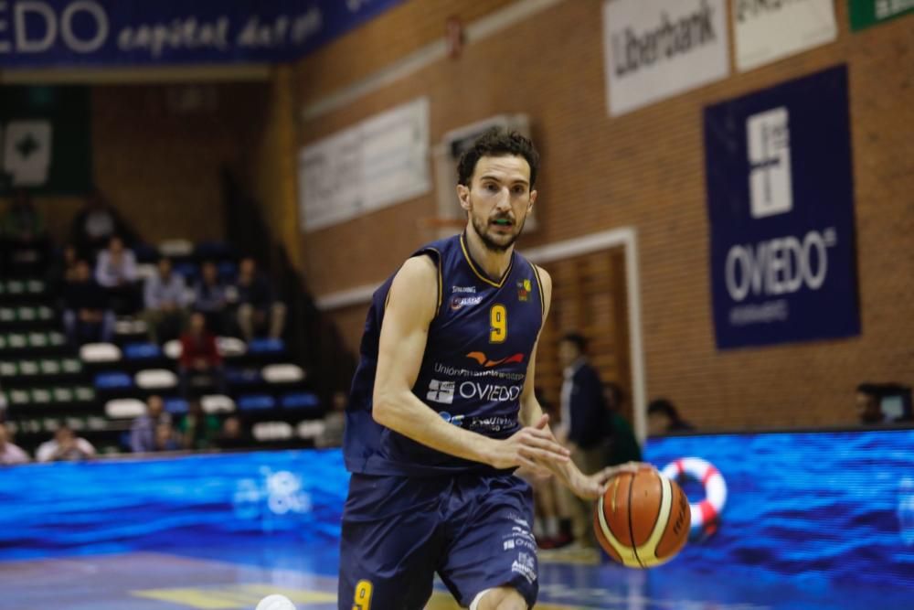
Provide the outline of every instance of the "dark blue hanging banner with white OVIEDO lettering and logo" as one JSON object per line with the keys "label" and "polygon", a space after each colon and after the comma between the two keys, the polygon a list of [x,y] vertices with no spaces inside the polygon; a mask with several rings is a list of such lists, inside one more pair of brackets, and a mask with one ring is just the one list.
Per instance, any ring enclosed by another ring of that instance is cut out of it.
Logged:
{"label": "dark blue hanging banner with white OVIEDO lettering and logo", "polygon": [[859,334],[847,70],[705,109],[717,348]]}

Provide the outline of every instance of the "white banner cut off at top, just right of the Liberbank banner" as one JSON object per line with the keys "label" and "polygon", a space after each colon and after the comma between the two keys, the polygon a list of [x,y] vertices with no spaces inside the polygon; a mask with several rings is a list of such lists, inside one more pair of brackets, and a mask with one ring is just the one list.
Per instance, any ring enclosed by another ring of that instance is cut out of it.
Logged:
{"label": "white banner cut off at top, just right of the Liberbank banner", "polygon": [[737,70],[758,68],[838,36],[834,0],[734,0]]}

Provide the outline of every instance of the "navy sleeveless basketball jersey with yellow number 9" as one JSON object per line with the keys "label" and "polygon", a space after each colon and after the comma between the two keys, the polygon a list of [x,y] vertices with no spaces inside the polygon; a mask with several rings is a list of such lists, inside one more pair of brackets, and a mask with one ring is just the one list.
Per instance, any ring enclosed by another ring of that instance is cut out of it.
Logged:
{"label": "navy sleeveless basketball jersey with yellow number 9", "polygon": [[[452,425],[506,438],[521,427],[520,395],[543,323],[537,267],[513,252],[503,277],[487,277],[473,262],[464,235],[433,241],[413,254],[422,255],[438,266],[438,309],[412,392]],[[393,276],[377,289],[368,310],[346,409],[346,468],[395,476],[491,470],[412,441],[372,418],[378,340],[392,283]]]}

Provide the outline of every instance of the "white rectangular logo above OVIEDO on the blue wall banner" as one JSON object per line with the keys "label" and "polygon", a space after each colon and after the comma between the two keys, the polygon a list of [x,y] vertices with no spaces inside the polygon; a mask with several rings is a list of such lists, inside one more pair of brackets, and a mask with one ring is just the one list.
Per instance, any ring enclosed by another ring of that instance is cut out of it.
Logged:
{"label": "white rectangular logo above OVIEDO on the blue wall banner", "polygon": [[752,218],[793,209],[791,135],[787,108],[753,114],[746,122],[749,139],[749,202]]}

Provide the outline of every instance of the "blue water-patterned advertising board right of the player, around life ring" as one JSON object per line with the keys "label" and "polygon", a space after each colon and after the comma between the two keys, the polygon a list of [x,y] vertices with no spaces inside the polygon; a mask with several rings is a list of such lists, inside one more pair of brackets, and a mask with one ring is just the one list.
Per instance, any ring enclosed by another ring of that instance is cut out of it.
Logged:
{"label": "blue water-patterned advertising board right of the player, around life ring", "polygon": [[[914,599],[914,430],[671,436],[645,448],[658,468],[685,457],[715,466],[727,499],[672,570]],[[684,490],[691,503],[705,497],[697,482]]]}

